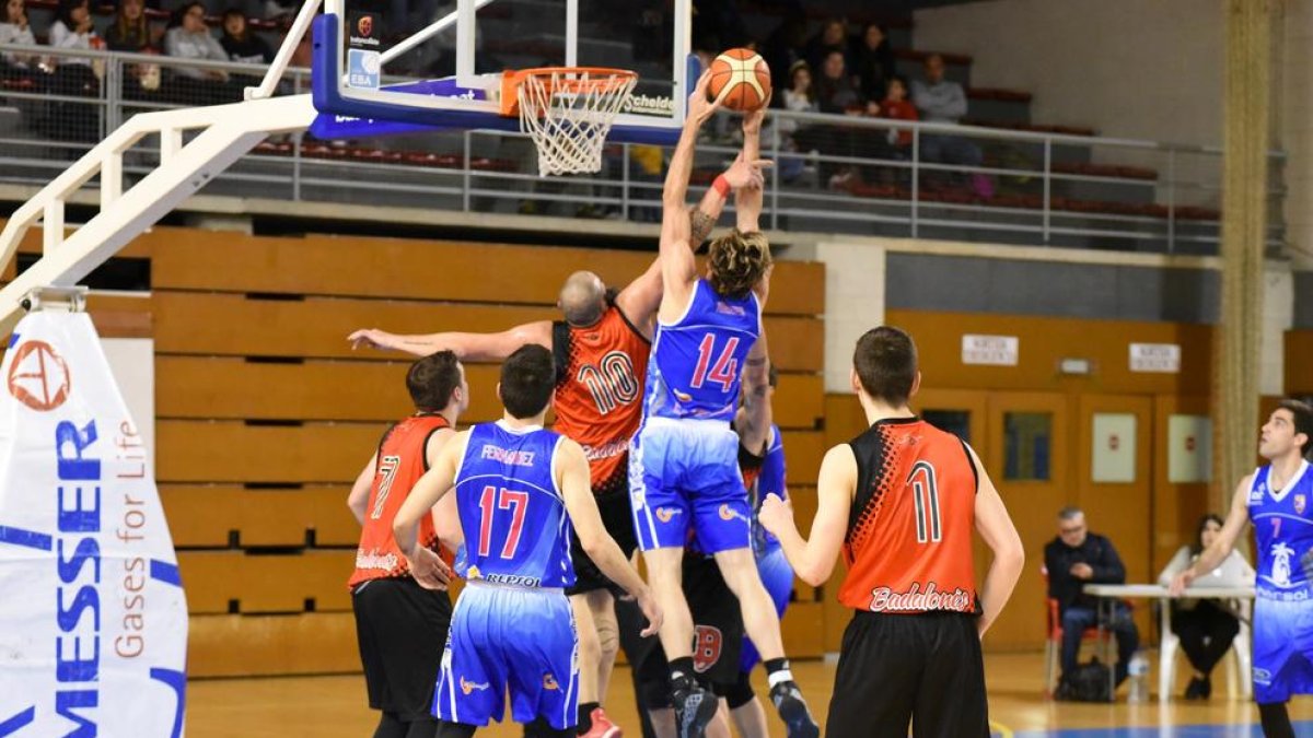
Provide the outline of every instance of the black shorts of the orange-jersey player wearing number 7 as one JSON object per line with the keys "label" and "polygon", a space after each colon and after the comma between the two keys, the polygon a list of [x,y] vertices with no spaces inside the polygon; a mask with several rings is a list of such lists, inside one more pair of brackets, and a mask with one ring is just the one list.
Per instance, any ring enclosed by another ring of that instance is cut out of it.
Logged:
{"label": "black shorts of the orange-jersey player wearing number 7", "polygon": [[411,576],[373,579],[352,590],[356,638],[369,706],[404,722],[429,717],[452,625],[452,599]]}

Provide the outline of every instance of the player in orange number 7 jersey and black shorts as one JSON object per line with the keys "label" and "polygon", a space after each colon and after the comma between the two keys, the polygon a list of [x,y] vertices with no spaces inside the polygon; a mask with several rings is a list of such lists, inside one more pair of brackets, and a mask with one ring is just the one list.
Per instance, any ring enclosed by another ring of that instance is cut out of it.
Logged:
{"label": "player in orange number 7 jersey and black shorts", "polygon": [[[431,714],[433,687],[452,622],[446,592],[425,590],[410,575],[393,537],[393,519],[456,435],[470,389],[465,368],[450,351],[416,361],[406,374],[406,387],[415,414],[387,429],[347,498],[362,528],[347,586],[369,706],[383,713],[374,738],[432,738],[437,730]],[[440,502],[419,528],[424,555],[446,576],[450,552],[461,540],[456,500]]]}

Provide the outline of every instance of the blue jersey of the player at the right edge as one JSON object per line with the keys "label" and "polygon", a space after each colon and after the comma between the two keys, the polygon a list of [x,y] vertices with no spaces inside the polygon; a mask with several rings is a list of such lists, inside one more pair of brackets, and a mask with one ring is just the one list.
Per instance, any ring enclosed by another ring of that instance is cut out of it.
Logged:
{"label": "blue jersey of the player at the right edge", "polygon": [[1313,599],[1313,471],[1300,462],[1284,488],[1268,483],[1272,467],[1260,466],[1249,488],[1249,517],[1258,545],[1258,596],[1285,601]]}

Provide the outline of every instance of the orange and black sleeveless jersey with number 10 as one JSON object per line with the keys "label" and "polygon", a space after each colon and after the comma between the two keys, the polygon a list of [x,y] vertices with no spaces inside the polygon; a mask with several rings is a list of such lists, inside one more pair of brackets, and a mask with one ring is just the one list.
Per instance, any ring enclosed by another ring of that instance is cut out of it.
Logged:
{"label": "orange and black sleeveless jersey with number 10", "polygon": [[595,494],[629,490],[629,440],[642,423],[642,377],[651,343],[618,307],[579,328],[553,324],[557,422],[553,431],[583,446]]}

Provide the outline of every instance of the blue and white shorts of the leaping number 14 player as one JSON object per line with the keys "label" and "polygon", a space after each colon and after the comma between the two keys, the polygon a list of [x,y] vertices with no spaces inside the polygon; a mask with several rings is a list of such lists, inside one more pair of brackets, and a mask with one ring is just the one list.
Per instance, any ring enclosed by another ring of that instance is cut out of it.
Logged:
{"label": "blue and white shorts of the leaping number 14 player", "polygon": [[629,448],[629,502],[639,549],[684,546],[689,528],[708,554],[751,545],[738,444],[721,420],[647,419]]}

